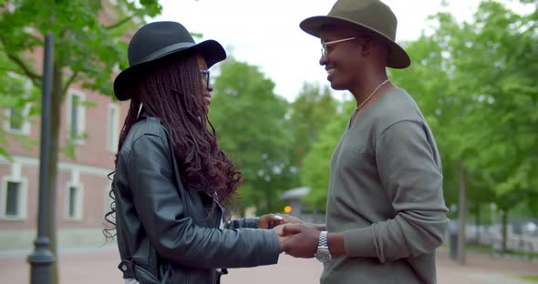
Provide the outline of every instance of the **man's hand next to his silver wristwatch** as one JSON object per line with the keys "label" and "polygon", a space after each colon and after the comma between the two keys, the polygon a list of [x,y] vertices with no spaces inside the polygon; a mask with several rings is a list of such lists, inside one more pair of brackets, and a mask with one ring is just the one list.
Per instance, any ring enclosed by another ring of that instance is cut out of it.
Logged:
{"label": "man's hand next to his silver wristwatch", "polygon": [[[305,224],[285,224],[277,229],[283,239],[280,248],[295,258],[314,258],[319,242],[319,230]],[[280,240],[280,238],[279,238]]]}

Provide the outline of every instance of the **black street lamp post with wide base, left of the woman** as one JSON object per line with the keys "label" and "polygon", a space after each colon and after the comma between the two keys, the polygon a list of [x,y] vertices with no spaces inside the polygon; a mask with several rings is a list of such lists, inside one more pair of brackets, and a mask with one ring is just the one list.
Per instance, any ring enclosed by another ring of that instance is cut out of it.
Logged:
{"label": "black street lamp post with wide base, left of the woman", "polygon": [[52,97],[52,65],[54,45],[52,35],[45,36],[45,51],[43,65],[43,84],[41,98],[41,145],[39,158],[39,200],[37,211],[37,238],[35,249],[28,256],[30,263],[30,283],[49,284],[51,264],[56,261],[49,249],[50,239],[46,236],[47,195],[48,195],[48,160],[50,157],[50,103]]}

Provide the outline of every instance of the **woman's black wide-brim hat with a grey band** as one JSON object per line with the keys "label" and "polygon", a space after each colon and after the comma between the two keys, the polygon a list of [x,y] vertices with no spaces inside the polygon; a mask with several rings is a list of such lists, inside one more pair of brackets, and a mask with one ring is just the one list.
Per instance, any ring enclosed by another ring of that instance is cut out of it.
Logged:
{"label": "woman's black wide-brim hat with a grey band", "polygon": [[226,59],[226,52],[218,42],[210,39],[199,44],[180,23],[154,22],[140,27],[129,42],[129,67],[114,80],[114,94],[120,100],[128,100],[136,90],[132,80],[143,72],[144,66],[184,52],[200,53],[208,68]]}

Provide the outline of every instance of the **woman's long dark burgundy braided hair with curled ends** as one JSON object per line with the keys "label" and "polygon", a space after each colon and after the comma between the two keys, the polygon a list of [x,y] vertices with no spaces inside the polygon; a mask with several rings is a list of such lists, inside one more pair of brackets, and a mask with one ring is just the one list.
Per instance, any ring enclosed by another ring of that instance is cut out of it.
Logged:
{"label": "woman's long dark burgundy braided hair with curled ends", "polygon": [[[180,171],[185,188],[204,191],[213,197],[212,208],[219,202],[227,204],[241,182],[232,160],[217,144],[216,131],[205,112],[202,95],[202,76],[192,54],[174,56],[160,65],[151,65],[139,79],[139,96],[132,96],[129,112],[119,135],[119,151],[129,129],[137,122],[140,103],[150,116],[160,117],[167,129],[174,155],[181,163]],[[209,127],[208,127],[209,126]],[[110,173],[109,177],[115,172]],[[105,215],[109,223],[103,229],[107,238],[115,236],[116,212],[113,189],[110,211]],[[210,213],[211,214],[211,213]]]}

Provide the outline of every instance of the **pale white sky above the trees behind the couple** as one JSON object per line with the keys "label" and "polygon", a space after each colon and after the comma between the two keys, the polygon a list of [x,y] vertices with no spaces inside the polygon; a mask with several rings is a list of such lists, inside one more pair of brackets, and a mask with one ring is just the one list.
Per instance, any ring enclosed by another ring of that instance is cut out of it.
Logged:
{"label": "pale white sky above the trees behind the couple", "polygon": [[[448,11],[460,21],[471,20],[480,0],[383,0],[398,18],[396,40],[411,41],[431,32],[428,15]],[[304,82],[328,86],[319,66],[320,41],[299,28],[309,16],[326,15],[333,0],[160,0],[161,15],[152,21],[175,21],[202,39],[214,39],[228,55],[259,66],[275,83],[274,93],[295,100]],[[345,96],[345,95],[341,95]],[[338,97],[338,95],[336,95]]]}

